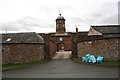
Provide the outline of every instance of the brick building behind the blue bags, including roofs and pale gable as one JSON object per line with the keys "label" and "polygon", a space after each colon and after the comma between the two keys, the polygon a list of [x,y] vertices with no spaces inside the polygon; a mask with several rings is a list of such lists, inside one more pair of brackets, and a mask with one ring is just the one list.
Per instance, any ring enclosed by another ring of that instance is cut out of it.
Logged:
{"label": "brick building behind the blue bags, including roofs and pale gable", "polygon": [[119,59],[120,25],[91,26],[86,40],[78,43],[79,56],[102,55],[105,60]]}

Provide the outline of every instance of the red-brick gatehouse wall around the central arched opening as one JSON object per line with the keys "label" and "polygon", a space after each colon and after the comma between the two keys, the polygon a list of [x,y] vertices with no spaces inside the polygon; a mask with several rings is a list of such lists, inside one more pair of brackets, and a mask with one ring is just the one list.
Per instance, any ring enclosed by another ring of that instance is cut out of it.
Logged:
{"label": "red-brick gatehouse wall around the central arched opening", "polygon": [[[60,38],[63,38],[63,41],[60,41]],[[61,36],[61,37],[50,37],[49,39],[49,54],[50,56],[54,56],[56,51],[59,50],[59,44],[63,43],[64,44],[64,50],[71,50],[71,37],[67,36]]]}

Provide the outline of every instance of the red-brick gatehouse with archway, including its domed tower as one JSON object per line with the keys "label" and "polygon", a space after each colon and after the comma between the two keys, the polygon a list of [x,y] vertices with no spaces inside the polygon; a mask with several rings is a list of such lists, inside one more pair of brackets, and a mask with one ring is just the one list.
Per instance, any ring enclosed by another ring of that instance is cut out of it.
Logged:
{"label": "red-brick gatehouse with archway, including its domed tower", "polygon": [[77,32],[66,32],[65,19],[61,14],[56,19],[56,33],[45,34],[46,57],[53,57],[57,51],[72,51],[77,56]]}

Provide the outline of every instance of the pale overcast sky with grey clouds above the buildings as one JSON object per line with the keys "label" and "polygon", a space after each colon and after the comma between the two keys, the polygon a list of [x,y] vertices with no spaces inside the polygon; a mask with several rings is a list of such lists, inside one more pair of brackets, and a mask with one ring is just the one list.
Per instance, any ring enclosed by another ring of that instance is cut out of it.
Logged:
{"label": "pale overcast sky with grey clouds above the buildings", "polygon": [[[67,32],[88,31],[91,25],[118,24],[119,0],[0,0],[0,33],[56,31],[65,18]],[[60,10],[60,12],[59,12]]]}

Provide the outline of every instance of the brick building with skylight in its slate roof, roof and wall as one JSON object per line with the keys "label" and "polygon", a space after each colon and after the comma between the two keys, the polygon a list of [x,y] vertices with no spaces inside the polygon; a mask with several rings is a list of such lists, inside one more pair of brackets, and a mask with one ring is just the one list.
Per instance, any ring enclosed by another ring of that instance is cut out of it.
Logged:
{"label": "brick building with skylight in its slate roof, roof and wall", "polygon": [[44,40],[34,32],[2,34],[2,63],[16,64],[44,59]]}

